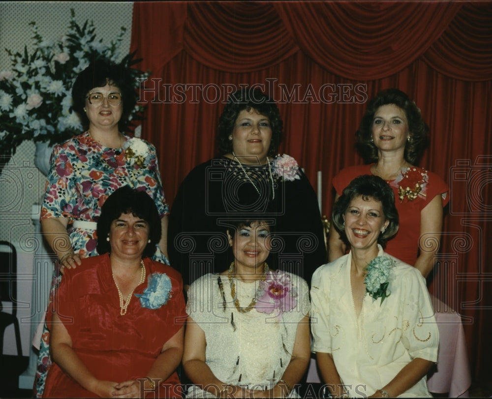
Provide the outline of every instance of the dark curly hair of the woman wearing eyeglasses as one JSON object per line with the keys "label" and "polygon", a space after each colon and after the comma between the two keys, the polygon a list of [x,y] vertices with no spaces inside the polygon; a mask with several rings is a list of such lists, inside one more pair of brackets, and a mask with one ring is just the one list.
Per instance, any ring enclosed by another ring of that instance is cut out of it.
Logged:
{"label": "dark curly hair of the woman wearing eyeglasses", "polygon": [[84,112],[86,96],[95,87],[104,87],[107,84],[117,86],[122,93],[123,115],[118,123],[120,131],[124,131],[129,124],[128,117],[137,103],[137,93],[134,78],[129,68],[114,62],[98,59],[79,73],[72,87],[73,109],[79,114],[84,128],[89,126],[89,119]]}

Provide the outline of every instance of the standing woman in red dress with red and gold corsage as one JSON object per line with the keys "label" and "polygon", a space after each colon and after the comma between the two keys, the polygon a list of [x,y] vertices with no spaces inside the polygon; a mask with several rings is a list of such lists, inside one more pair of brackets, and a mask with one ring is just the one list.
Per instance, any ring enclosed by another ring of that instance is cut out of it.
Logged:
{"label": "standing woman in red dress with red and gold corsage", "polygon": [[[414,166],[428,143],[429,128],[420,110],[398,89],[379,92],[369,101],[356,133],[365,165],[342,169],[333,179],[336,200],[357,176],[372,174],[384,179],[395,194],[400,229],[385,252],[415,266],[424,277],[434,266],[439,249],[443,207],[449,187],[436,174]],[[330,229],[329,260],[345,254],[335,229]]]}

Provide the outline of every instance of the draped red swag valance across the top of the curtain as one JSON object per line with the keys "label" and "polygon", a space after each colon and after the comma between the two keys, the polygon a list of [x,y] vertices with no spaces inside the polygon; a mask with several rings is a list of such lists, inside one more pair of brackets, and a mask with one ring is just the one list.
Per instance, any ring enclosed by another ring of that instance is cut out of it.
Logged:
{"label": "draped red swag valance across the top of the curtain", "polygon": [[145,37],[139,55],[154,74],[182,50],[226,72],[302,51],[352,80],[390,76],[423,57],[447,76],[482,81],[492,76],[491,19],[490,2],[137,3],[132,48]]}

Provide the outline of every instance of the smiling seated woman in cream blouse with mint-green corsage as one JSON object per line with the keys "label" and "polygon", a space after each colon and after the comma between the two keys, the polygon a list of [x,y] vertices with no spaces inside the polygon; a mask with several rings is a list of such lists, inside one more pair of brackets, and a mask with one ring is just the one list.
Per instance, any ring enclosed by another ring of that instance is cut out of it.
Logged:
{"label": "smiling seated woman in cream blouse with mint-green corsage", "polygon": [[336,202],[332,224],[350,253],[316,270],[312,350],[335,397],[431,397],[426,375],[439,333],[425,279],[383,251],[398,231],[393,190],[359,176]]}

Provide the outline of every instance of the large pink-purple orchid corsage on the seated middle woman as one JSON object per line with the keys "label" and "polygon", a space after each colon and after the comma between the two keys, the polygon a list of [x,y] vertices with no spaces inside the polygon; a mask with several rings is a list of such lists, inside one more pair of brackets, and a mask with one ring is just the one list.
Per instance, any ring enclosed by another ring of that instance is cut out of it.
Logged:
{"label": "large pink-purple orchid corsage on the seated middle woman", "polygon": [[283,271],[268,271],[265,280],[259,283],[256,310],[260,313],[273,313],[278,320],[282,313],[292,310],[297,305],[297,290],[290,276]]}

